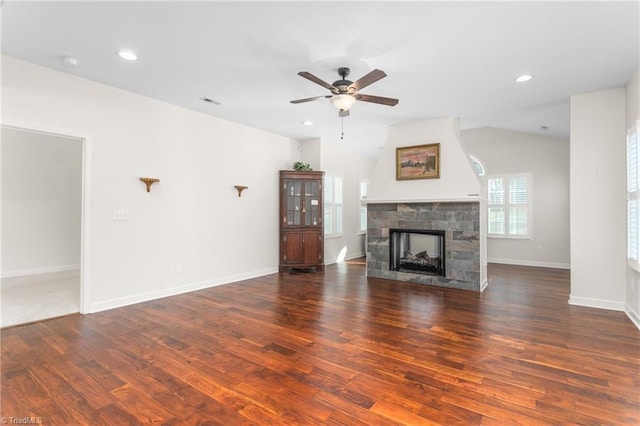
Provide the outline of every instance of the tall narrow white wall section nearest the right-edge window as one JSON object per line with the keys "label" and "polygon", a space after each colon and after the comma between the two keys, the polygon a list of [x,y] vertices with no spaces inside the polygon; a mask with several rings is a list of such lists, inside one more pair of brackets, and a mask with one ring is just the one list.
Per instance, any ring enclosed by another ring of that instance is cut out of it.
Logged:
{"label": "tall narrow white wall section nearest the right-edge window", "polygon": [[571,97],[572,304],[624,309],[625,141],[624,88]]}

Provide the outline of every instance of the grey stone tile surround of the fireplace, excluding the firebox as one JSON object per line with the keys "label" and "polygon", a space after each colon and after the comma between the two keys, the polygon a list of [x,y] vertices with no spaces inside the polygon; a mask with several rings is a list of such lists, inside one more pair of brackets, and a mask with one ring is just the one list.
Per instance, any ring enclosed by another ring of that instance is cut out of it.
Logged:
{"label": "grey stone tile surround of the fireplace, excluding the firebox", "polygon": [[[390,271],[389,228],[445,231],[445,276]],[[481,291],[480,203],[367,204],[367,275]]]}

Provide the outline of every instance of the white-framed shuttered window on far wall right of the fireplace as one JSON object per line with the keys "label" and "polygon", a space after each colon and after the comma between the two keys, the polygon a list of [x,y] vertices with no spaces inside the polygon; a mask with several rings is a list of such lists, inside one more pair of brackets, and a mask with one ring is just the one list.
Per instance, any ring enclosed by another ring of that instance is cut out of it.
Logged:
{"label": "white-framed shuttered window on far wall right of the fireplace", "polygon": [[494,176],[487,180],[489,236],[529,238],[529,175]]}

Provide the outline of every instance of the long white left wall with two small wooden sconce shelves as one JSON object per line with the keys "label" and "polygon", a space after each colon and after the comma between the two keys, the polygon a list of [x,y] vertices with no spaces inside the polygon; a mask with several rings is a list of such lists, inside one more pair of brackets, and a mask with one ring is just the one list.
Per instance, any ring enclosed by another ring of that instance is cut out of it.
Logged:
{"label": "long white left wall with two small wooden sconce shelves", "polygon": [[[297,142],[6,56],[2,114],[87,138],[85,312],[277,271],[278,170]],[[160,182],[147,193],[142,176]]]}

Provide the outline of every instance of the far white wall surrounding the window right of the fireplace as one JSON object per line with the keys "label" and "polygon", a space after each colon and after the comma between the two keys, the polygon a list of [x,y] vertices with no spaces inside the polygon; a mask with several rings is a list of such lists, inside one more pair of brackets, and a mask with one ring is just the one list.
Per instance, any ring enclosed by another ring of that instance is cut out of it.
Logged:
{"label": "far white wall surrounding the window right of the fireplace", "polygon": [[569,140],[484,128],[462,132],[462,142],[484,165],[484,196],[487,175],[531,175],[531,239],[489,238],[489,262],[569,268]]}

